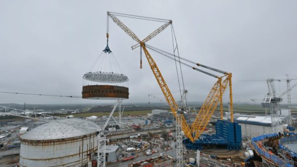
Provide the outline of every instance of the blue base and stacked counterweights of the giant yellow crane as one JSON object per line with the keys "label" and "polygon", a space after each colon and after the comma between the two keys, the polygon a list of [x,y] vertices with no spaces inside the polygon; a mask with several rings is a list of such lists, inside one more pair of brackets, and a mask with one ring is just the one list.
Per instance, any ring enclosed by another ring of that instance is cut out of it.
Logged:
{"label": "blue base and stacked counterweights of the giant yellow crane", "polygon": [[183,140],[187,149],[202,150],[203,146],[226,146],[228,150],[241,150],[242,134],[241,125],[226,120],[218,120],[216,134],[201,134],[194,143],[190,139]]}

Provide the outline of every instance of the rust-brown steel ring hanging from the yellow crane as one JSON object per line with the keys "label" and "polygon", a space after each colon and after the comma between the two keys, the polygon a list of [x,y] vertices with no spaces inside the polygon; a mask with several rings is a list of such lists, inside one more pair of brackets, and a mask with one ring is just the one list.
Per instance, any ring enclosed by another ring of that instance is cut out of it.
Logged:
{"label": "rust-brown steel ring hanging from the yellow crane", "polygon": [[114,85],[87,85],[83,86],[82,94],[85,99],[128,99],[129,88]]}

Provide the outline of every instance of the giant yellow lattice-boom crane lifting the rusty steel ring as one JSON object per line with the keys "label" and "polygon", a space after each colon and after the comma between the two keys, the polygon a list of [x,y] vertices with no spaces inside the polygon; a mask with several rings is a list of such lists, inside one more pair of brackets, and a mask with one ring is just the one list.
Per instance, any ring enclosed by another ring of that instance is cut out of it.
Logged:
{"label": "giant yellow lattice-boom crane lifting the rusty steel ring", "polygon": [[[133,33],[124,23],[122,23],[117,16],[124,16],[124,17],[131,17],[131,18],[137,18],[137,19],[145,19],[145,20],[152,20],[152,21],[160,21],[165,22],[162,26],[160,26],[158,29],[153,31],[151,34],[149,34],[145,39],[142,41],[136,36],[135,33]],[[157,83],[159,84],[165,99],[170,106],[170,109],[176,118],[176,114],[179,111],[179,106],[177,102],[175,101],[167,83],[165,82],[157,64],[151,57],[150,53],[148,52],[146,42],[148,42],[150,39],[155,37],[157,34],[162,32],[164,29],[166,29],[169,25],[172,24],[171,20],[165,20],[165,19],[157,19],[157,18],[150,18],[150,17],[142,17],[142,16],[136,16],[136,15],[129,15],[129,14],[122,14],[122,13],[114,13],[114,12],[107,12],[107,38],[108,35],[108,17],[110,17],[124,32],[126,32],[134,41],[137,42],[137,44],[132,46],[132,49],[135,49],[137,47],[141,47],[146,55],[146,58],[148,60],[148,64],[151,68],[151,71],[153,75],[155,76],[155,79],[157,80]],[[140,68],[142,68],[142,59],[140,62]],[[185,64],[185,63],[184,63]],[[187,64],[186,64],[187,65]],[[214,86],[211,88],[209,94],[207,95],[201,109],[198,112],[198,115],[194,121],[194,123],[191,125],[191,127],[188,125],[184,115],[181,115],[182,118],[182,130],[184,131],[185,135],[194,142],[198,139],[200,134],[202,134],[203,130],[205,129],[207,123],[209,122],[211,115],[215,111],[218,103],[220,102],[220,111],[221,111],[221,119],[223,119],[223,103],[222,103],[222,96],[225,92],[227,86],[229,85],[230,90],[230,107],[231,107],[231,122],[233,122],[233,102],[232,102],[232,74],[228,72],[224,72],[215,68],[211,68],[199,63],[196,63],[198,67],[202,67],[208,70],[212,70],[214,72],[218,72],[223,74],[222,76],[216,76],[209,72],[203,71],[201,69],[198,69],[196,67],[191,67],[194,70],[197,70],[199,72],[202,72],[204,74],[207,74],[209,76],[215,77],[217,79],[217,82],[214,84]]]}

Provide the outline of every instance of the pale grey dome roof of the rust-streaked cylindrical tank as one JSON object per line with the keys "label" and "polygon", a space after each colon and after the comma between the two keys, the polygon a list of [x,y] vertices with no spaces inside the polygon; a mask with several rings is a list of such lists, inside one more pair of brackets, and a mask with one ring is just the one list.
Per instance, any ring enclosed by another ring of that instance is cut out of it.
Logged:
{"label": "pale grey dome roof of the rust-streaked cylindrical tank", "polygon": [[40,125],[25,134],[22,139],[27,140],[52,140],[82,136],[99,131],[99,125],[80,119],[63,119]]}

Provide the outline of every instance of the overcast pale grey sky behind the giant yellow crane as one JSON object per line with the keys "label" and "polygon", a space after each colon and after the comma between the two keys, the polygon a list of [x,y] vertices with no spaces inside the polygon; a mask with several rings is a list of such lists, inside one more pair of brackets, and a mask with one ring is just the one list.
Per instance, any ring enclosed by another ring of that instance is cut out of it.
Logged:
{"label": "overcast pale grey sky behind the giant yellow crane", "polygon": [[[265,81],[239,81],[297,78],[296,6],[295,0],[0,0],[0,91],[81,95],[82,76],[106,45],[106,11],[112,11],[171,19],[182,57],[232,72],[235,102],[262,99]],[[162,25],[120,19],[140,39]],[[139,48],[131,49],[135,42],[109,23],[109,46],[130,80],[125,102],[157,102],[148,98],[162,98],[148,62],[140,69]],[[170,27],[148,44],[172,52]],[[151,55],[170,89],[179,90],[174,62]],[[183,74],[189,101],[203,101],[216,82],[187,67]],[[277,94],[286,90],[284,81],[275,85]],[[0,93],[0,103],[8,102],[106,101]]]}

